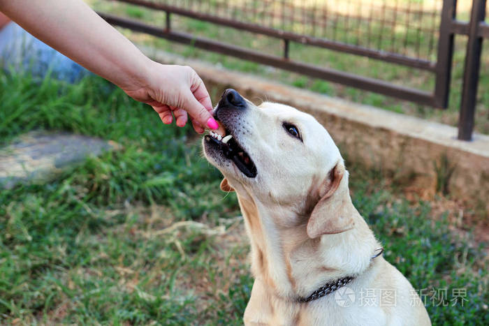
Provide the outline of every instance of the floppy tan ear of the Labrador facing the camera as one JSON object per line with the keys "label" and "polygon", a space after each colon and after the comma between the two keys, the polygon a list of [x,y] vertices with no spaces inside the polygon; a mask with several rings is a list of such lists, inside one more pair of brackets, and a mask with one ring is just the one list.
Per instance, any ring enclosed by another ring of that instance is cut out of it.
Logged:
{"label": "floppy tan ear of the Labrador facing the camera", "polygon": [[342,162],[337,163],[320,190],[321,199],[312,210],[307,223],[307,235],[333,235],[353,228],[355,207],[348,190],[348,176]]}

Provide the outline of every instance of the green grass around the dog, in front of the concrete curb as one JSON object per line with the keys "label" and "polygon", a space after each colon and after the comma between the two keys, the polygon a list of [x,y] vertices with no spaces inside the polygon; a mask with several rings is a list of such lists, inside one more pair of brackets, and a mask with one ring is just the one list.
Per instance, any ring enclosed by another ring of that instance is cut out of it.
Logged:
{"label": "green grass around the dog, in front of the concrete curb", "polygon": [[[253,282],[242,219],[189,127],[161,124],[98,77],[1,75],[0,103],[2,145],[39,128],[122,145],[48,184],[0,192],[0,324],[241,325]],[[487,266],[470,232],[349,168],[386,259],[424,293],[447,289],[448,306],[428,300],[433,324],[488,325]],[[458,288],[464,306],[451,304]]]}

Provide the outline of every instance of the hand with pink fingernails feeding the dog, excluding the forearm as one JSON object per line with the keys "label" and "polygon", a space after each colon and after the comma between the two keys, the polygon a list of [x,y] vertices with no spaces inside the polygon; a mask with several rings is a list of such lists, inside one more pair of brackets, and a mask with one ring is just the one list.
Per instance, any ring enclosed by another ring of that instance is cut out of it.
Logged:
{"label": "hand with pink fingernails feeding the dog, excluding the forearm", "polygon": [[158,112],[163,124],[171,124],[173,116],[177,126],[191,124],[197,133],[204,128],[217,129],[212,117],[212,103],[205,85],[189,66],[163,65],[149,61],[146,80],[122,87],[136,101],[147,103]]}

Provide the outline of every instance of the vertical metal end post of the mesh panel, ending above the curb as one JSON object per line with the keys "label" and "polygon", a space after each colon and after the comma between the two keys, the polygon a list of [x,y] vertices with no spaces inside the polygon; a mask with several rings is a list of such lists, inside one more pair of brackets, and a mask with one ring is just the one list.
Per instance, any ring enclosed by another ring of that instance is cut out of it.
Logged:
{"label": "vertical metal end post of the mesh panel, ending above the curb", "polygon": [[457,0],[443,1],[439,26],[435,82],[435,106],[437,108],[446,108],[448,106],[453,57],[453,33],[451,31],[451,24],[455,20],[456,8]]}

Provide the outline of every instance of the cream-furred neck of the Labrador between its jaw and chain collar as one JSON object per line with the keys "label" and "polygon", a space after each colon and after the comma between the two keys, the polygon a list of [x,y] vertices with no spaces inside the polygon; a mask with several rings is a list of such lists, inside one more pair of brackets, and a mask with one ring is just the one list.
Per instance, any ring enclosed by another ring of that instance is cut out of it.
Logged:
{"label": "cream-furred neck of the Labrador between its jaw and chain collar", "polygon": [[278,299],[294,301],[330,281],[361,274],[379,248],[354,207],[355,228],[310,239],[308,216],[298,216],[291,207],[263,203],[252,193],[237,193],[251,242],[251,271]]}

